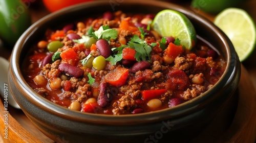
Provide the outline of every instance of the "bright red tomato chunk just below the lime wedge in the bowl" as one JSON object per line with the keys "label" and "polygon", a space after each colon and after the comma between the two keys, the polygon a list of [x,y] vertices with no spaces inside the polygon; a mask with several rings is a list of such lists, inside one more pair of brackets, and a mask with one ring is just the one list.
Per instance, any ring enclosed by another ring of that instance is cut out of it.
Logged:
{"label": "bright red tomato chunk just below the lime wedge in the bowl", "polygon": [[181,55],[183,52],[185,52],[185,50],[183,49],[182,45],[176,45],[170,42],[164,51],[164,55],[175,59],[177,56]]}

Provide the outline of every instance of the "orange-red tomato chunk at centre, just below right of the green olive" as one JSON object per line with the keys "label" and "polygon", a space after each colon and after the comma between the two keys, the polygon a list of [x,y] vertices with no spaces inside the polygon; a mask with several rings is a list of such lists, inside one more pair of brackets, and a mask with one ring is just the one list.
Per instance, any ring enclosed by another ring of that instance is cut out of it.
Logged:
{"label": "orange-red tomato chunk at centre, just below right of the green olive", "polygon": [[113,86],[123,86],[129,75],[129,69],[123,67],[117,67],[112,73],[106,74],[105,81]]}

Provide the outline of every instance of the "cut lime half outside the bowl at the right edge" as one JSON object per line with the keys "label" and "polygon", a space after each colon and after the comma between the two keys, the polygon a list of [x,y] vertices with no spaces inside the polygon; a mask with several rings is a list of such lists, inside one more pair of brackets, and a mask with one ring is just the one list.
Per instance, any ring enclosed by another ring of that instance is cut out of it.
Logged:
{"label": "cut lime half outside the bowl at the right edge", "polygon": [[231,40],[239,60],[246,60],[256,42],[256,29],[251,16],[242,9],[227,8],[215,17],[214,23]]}

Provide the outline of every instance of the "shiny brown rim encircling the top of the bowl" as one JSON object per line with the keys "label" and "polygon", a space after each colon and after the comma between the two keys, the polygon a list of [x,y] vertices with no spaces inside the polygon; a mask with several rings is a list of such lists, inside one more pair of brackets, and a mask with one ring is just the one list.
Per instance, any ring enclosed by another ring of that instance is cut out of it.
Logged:
{"label": "shiny brown rim encircling the top of the bowl", "polygon": [[[175,9],[178,10],[182,13],[184,13],[188,18],[196,18],[198,21],[201,23],[204,23],[207,25],[208,28],[211,29],[211,31],[215,32],[223,42],[223,44],[226,46],[227,49],[227,65],[226,69],[220,78],[220,80],[208,91],[204,92],[201,94],[199,97],[192,99],[190,101],[187,101],[181,105],[175,106],[173,108],[166,108],[162,110],[157,110],[153,112],[146,112],[146,113],[140,113],[140,114],[129,114],[129,115],[105,115],[105,114],[94,114],[94,113],[82,113],[80,111],[73,111],[68,108],[62,107],[60,105],[54,104],[51,101],[45,99],[44,97],[40,96],[38,93],[36,93],[26,82],[26,80],[23,78],[22,72],[20,70],[19,66],[19,57],[20,53],[22,51],[22,47],[24,43],[28,40],[28,37],[33,35],[33,33],[37,30],[37,28],[41,25],[44,24],[45,21],[51,20],[54,17],[58,17],[62,14],[68,13],[69,11],[73,11],[76,9],[81,9],[81,8],[88,8],[91,6],[95,5],[104,5],[109,3],[108,1],[94,1],[94,2],[87,2],[83,4],[78,4],[75,6],[71,6],[62,10],[59,10],[57,12],[50,13],[46,15],[45,17],[42,17],[31,27],[29,27],[22,36],[18,39],[16,44],[14,45],[14,49],[12,51],[11,55],[11,60],[10,60],[10,68],[12,70],[12,77],[15,79],[16,84],[18,85],[17,88],[19,91],[22,91],[24,95],[30,102],[37,104],[40,106],[42,110],[45,110],[49,113],[56,114],[60,117],[67,118],[69,120],[77,120],[79,122],[90,122],[90,123],[102,123],[102,124],[109,124],[109,123],[120,123],[120,124],[129,124],[127,123],[127,118],[129,118],[129,122],[152,122],[152,121],[160,121],[160,120],[167,120],[171,116],[178,116],[182,115],[185,112],[195,110],[198,108],[198,103],[201,103],[202,101],[207,101],[210,100],[212,96],[212,93],[210,91],[212,90],[218,90],[226,86],[225,83],[221,83],[221,81],[224,80],[224,78],[227,78],[227,81],[231,79],[231,77],[227,77],[227,75],[234,75],[234,69],[229,68],[230,66],[236,66],[232,65],[234,64],[231,62],[231,60],[237,61],[236,55],[230,55],[230,51],[234,51],[232,44],[230,44],[230,40],[227,38],[227,36],[218,28],[216,27],[211,21],[208,19],[204,18],[203,16],[191,12],[188,9],[185,9],[181,6],[178,6],[176,4],[172,3],[167,3],[167,2],[160,2],[154,0],[150,1],[136,1],[136,0],[131,0],[131,1],[123,1],[123,4],[140,4],[140,5],[155,5],[158,7],[162,7],[163,5],[169,8],[169,9]],[[23,107],[21,106],[23,109]],[[139,121],[138,121],[139,120]]]}

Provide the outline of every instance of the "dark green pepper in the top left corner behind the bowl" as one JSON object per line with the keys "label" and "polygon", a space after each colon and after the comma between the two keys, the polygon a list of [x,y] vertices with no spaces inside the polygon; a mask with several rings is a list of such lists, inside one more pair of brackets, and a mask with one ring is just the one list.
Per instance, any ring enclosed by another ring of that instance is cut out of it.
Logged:
{"label": "dark green pepper in the top left corner behind the bowl", "polygon": [[31,25],[29,5],[18,0],[0,1],[0,39],[12,47]]}

